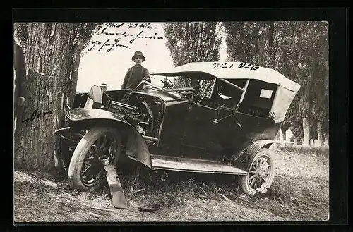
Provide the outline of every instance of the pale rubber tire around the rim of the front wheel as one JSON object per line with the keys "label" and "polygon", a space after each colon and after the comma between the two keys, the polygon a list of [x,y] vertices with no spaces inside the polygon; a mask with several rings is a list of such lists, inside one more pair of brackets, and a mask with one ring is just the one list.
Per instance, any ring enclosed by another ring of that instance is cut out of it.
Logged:
{"label": "pale rubber tire around the rim of the front wheel", "polygon": [[[105,176],[105,170],[102,166],[99,172],[100,178],[97,178],[92,184],[84,183],[81,175],[81,171],[84,164],[84,159],[88,154],[88,151],[92,147],[92,145],[99,139],[102,138],[103,135],[109,135],[114,140],[114,156],[120,155],[119,151],[119,133],[114,128],[107,128],[107,127],[94,127],[91,128],[88,133],[83,135],[83,138],[78,142],[78,145],[73,152],[71,157],[70,165],[68,166],[68,180],[70,182],[71,188],[77,190],[99,190],[107,183],[107,179]],[[103,174],[104,173],[104,174]]]}

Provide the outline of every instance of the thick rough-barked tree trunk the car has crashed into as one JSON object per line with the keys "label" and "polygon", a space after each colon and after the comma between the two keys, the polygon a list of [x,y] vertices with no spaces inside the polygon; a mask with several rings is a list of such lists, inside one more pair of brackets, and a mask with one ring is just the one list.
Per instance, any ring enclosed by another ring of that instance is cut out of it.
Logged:
{"label": "thick rough-barked tree trunk the car has crashed into", "polygon": [[64,125],[73,31],[71,23],[28,23],[28,102],[20,128],[17,163],[28,170],[54,169],[59,152],[54,130]]}

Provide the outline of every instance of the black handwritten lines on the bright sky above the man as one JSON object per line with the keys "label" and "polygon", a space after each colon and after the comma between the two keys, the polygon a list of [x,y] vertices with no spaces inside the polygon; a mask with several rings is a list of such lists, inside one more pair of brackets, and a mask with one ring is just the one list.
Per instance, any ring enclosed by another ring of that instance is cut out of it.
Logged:
{"label": "black handwritten lines on the bright sky above the man", "polygon": [[100,31],[102,39],[95,39],[88,51],[110,52],[117,48],[131,49],[139,39],[163,39],[151,23],[107,23]]}

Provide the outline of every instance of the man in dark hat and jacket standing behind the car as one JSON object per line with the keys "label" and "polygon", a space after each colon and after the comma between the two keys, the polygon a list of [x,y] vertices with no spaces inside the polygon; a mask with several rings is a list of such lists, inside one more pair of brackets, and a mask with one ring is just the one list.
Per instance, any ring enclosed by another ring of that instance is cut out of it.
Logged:
{"label": "man in dark hat and jacket standing behind the car", "polygon": [[[143,56],[141,51],[135,51],[132,60],[135,62],[135,66],[128,68],[121,90],[134,89],[144,78],[150,77],[148,69],[141,65],[145,61],[145,56]],[[148,81],[151,82],[151,80]]]}

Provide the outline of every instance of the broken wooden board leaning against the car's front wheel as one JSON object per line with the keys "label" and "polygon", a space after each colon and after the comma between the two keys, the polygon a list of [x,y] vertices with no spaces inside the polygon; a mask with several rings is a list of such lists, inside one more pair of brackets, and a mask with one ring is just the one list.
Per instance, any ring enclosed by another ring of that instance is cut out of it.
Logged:
{"label": "broken wooden board leaning against the car's front wheel", "polygon": [[119,209],[128,209],[128,202],[125,199],[116,169],[112,165],[104,165],[104,169],[107,171],[107,181],[112,195],[113,206]]}

